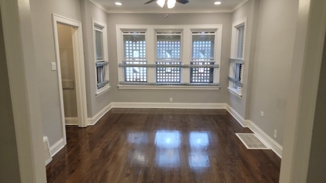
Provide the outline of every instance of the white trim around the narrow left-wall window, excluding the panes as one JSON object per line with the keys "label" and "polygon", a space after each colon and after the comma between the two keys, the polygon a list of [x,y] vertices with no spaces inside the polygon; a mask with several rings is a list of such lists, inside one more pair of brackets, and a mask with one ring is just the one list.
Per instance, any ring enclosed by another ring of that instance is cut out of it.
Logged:
{"label": "white trim around the narrow left-wall window, excluding the panes", "polygon": [[[107,28],[106,28],[106,23],[100,20],[97,20],[96,18],[92,18],[92,37],[93,37],[93,54],[94,54],[94,71],[95,71],[95,80],[94,80],[94,87],[95,87],[95,96],[99,97],[108,90],[110,90],[110,82],[107,83],[104,87],[102,88],[97,88],[97,68],[96,68],[96,43],[95,43],[95,25],[99,25],[102,28],[102,36],[103,36],[103,56],[104,60],[108,62],[108,49],[107,49]],[[109,75],[108,75],[108,67],[110,66],[105,66],[105,78],[110,81]]]}

